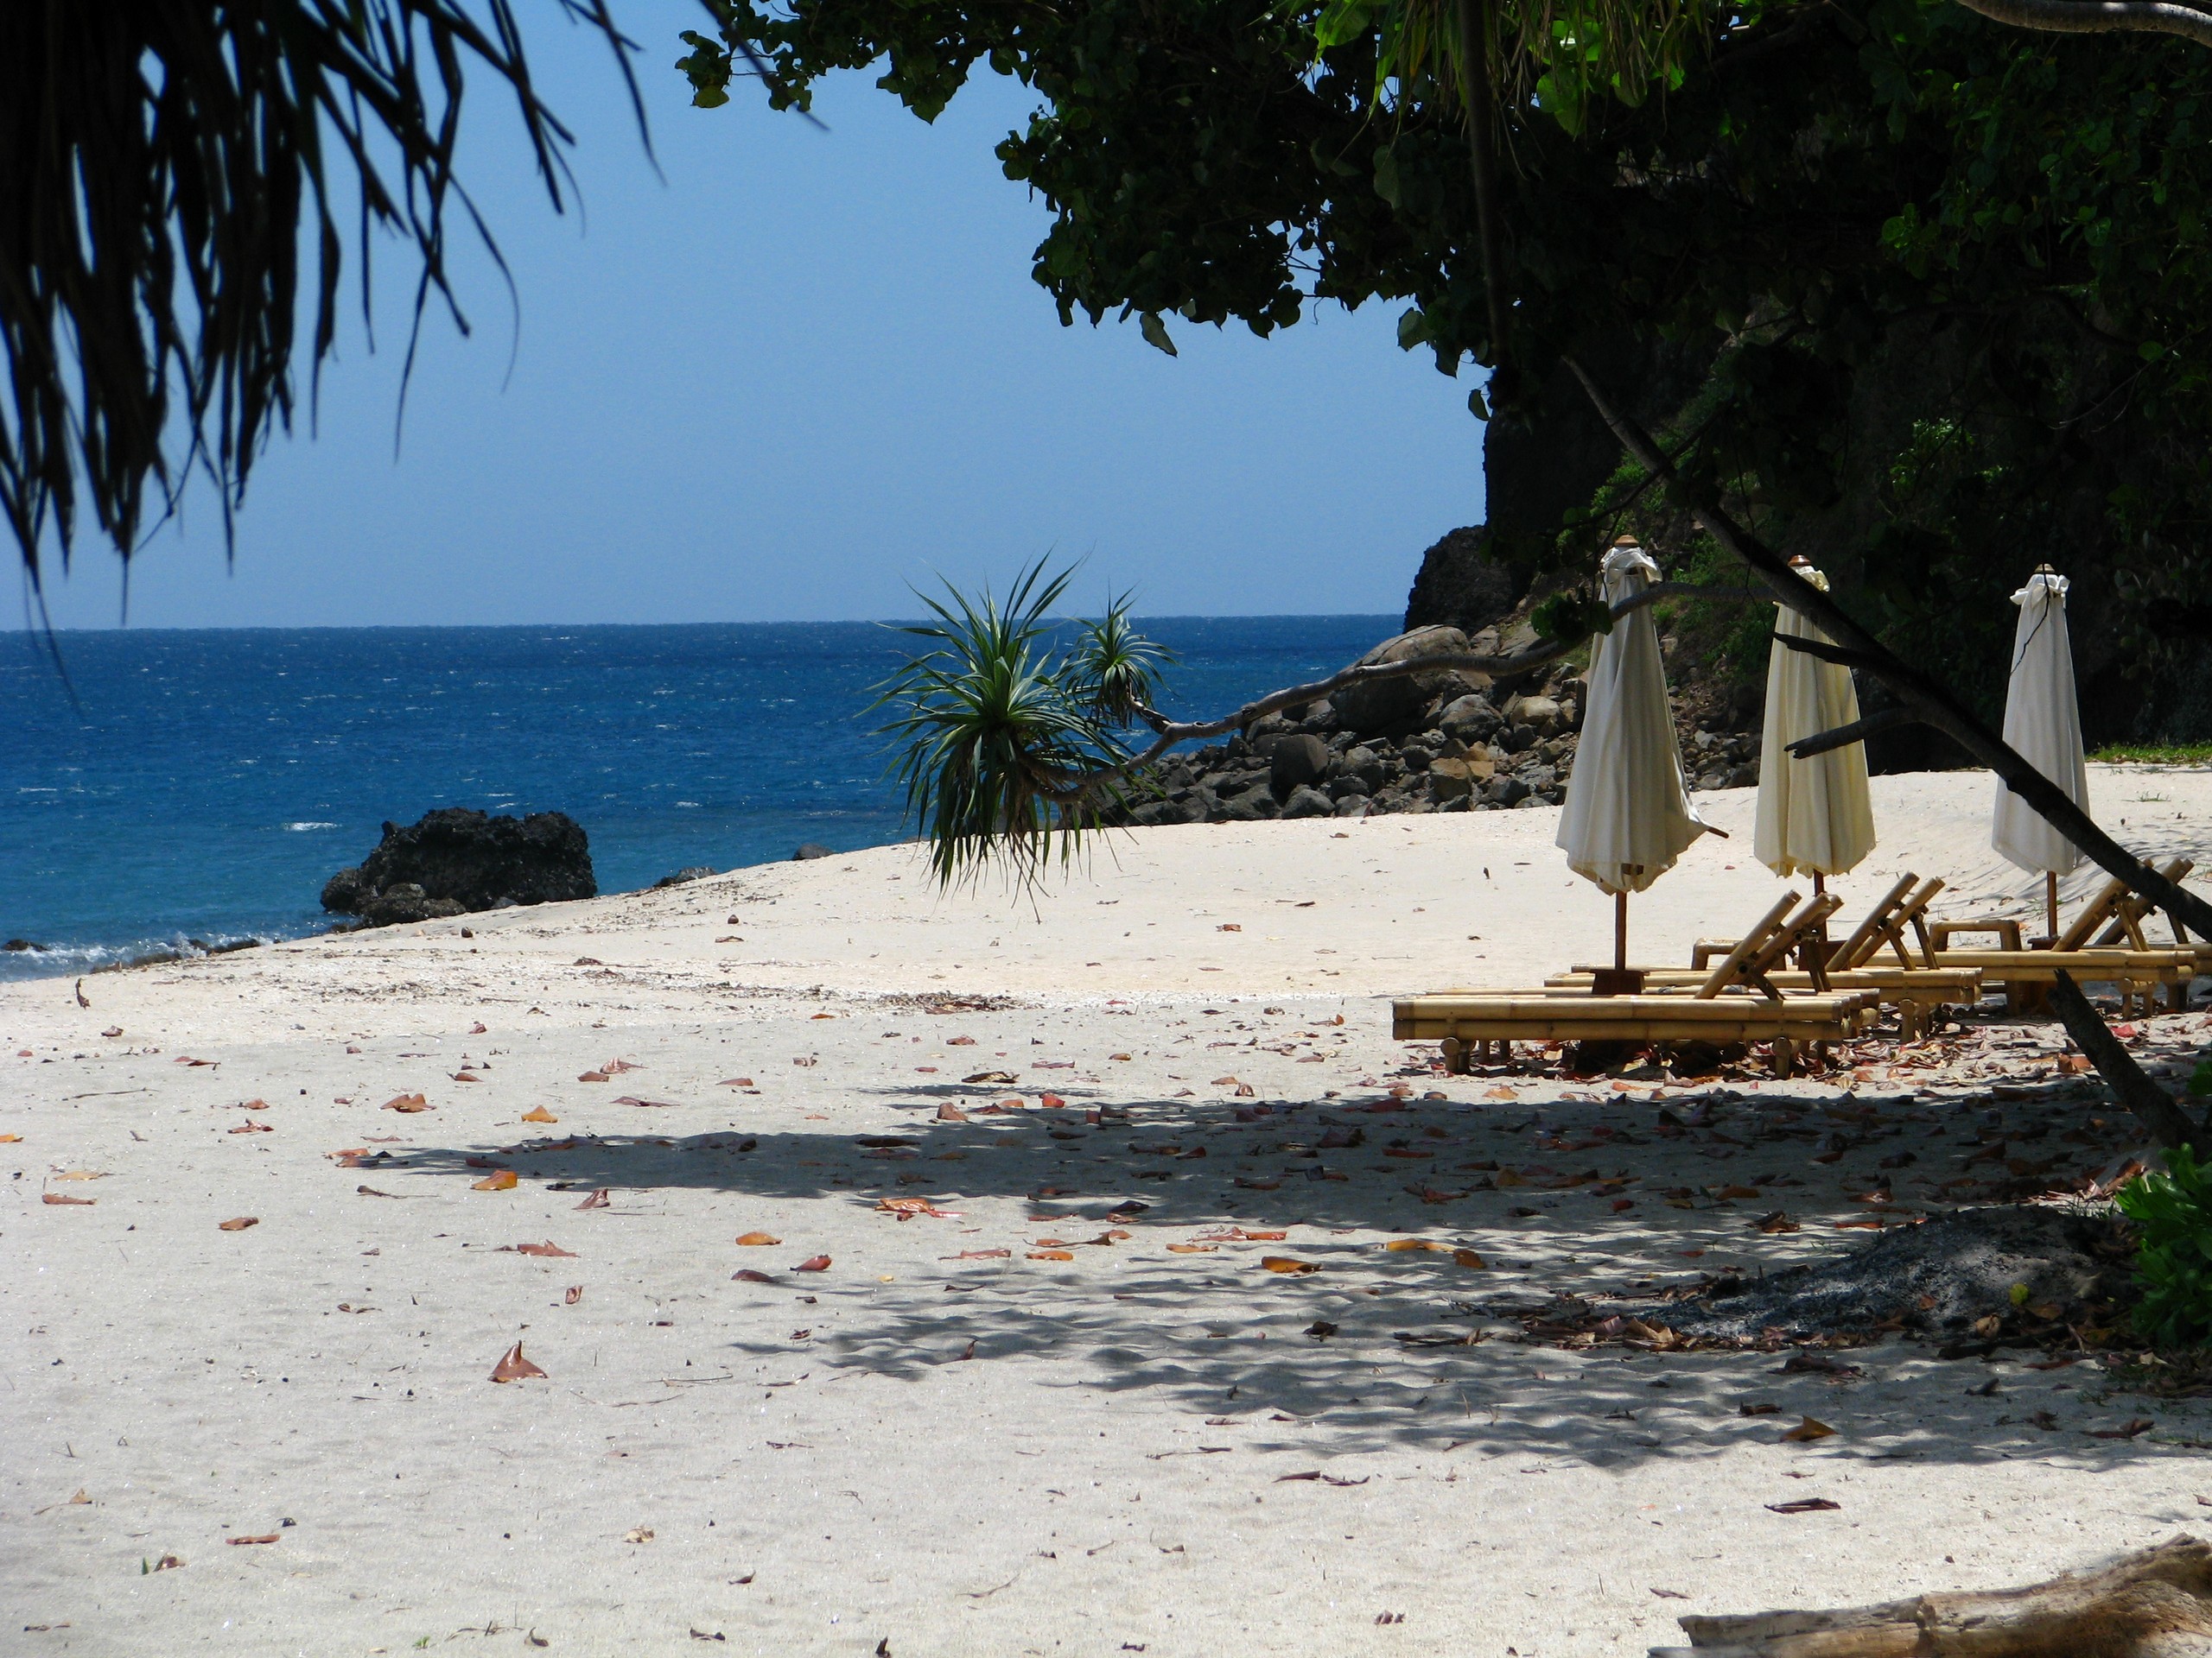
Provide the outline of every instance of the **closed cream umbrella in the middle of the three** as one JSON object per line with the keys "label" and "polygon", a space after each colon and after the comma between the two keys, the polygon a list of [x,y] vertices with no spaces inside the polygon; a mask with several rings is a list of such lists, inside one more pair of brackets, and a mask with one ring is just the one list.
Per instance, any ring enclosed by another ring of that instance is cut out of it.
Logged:
{"label": "closed cream umbrella in the middle of the three", "polygon": [[[1801,577],[1827,592],[1827,577],[1790,559]],[[1858,721],[1851,670],[1792,650],[1783,639],[1834,643],[1790,606],[1776,606],[1767,657],[1767,723],[1759,749],[1759,827],[1752,853],[1776,875],[1809,873],[1820,889],[1874,851],[1874,800],[1867,794],[1867,745],[1798,760],[1790,745]]]}

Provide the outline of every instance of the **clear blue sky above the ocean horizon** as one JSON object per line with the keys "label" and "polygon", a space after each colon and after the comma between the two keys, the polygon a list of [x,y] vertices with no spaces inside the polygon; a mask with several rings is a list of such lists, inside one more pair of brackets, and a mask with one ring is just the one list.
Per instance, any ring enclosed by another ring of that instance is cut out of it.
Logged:
{"label": "clear blue sky above the ocean horizon", "polygon": [[[584,210],[551,214],[478,75],[467,181],[520,332],[462,259],[476,334],[431,321],[394,458],[411,272],[383,248],[378,349],[349,327],[319,431],[263,455],[234,568],[199,491],[133,573],[133,626],[891,617],[909,581],[1046,550],[1155,615],[1389,612],[1480,522],[1469,382],[1400,354],[1389,307],[1272,340],[1179,325],[1172,360],[1133,323],[1060,327],[1029,281],[1044,208],[991,155],[1018,86],[984,75],[936,126],[869,75],[821,97],[827,133],[750,84],[692,111],[690,0],[617,0],[661,181],[604,46],[522,11]],[[51,586],[69,628],[117,597],[93,542]]]}

